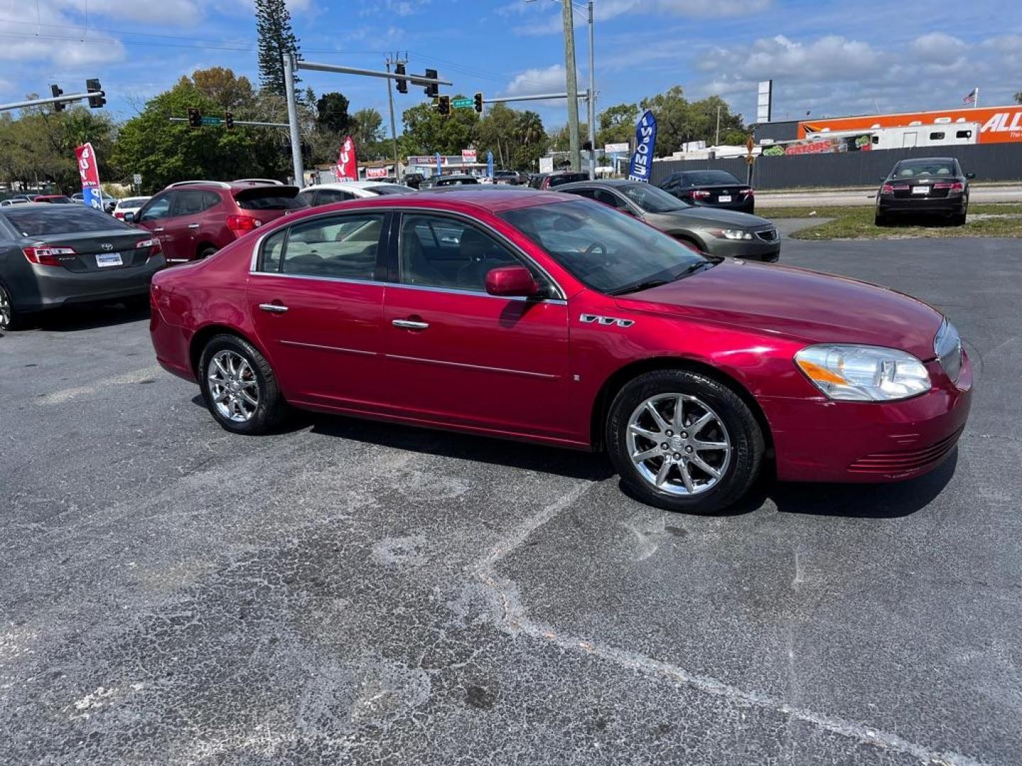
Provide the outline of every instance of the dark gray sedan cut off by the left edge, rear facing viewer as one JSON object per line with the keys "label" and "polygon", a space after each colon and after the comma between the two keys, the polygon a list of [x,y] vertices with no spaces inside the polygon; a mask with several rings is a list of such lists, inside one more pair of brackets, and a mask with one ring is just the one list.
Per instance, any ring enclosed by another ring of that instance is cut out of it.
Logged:
{"label": "dark gray sedan cut off by the left edge, rear facing viewer", "polygon": [[159,240],[80,205],[0,210],[0,330],[65,303],[145,297]]}

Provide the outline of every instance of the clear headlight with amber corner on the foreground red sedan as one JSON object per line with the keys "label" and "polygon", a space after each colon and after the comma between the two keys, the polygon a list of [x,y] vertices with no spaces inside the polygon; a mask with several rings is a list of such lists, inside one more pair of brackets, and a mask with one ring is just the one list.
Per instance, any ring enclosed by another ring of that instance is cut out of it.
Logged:
{"label": "clear headlight with amber corner on the foreground red sedan", "polygon": [[930,390],[930,374],[905,351],[824,343],[806,346],[795,364],[814,385],[841,401],[893,401]]}

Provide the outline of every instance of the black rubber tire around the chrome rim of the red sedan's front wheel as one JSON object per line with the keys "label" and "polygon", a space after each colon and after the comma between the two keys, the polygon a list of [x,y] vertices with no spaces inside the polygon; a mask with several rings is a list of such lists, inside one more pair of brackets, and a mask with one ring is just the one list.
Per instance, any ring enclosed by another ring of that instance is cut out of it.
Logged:
{"label": "black rubber tire around the chrome rim of the red sedan's front wheel", "polygon": [[[660,394],[696,397],[715,413],[727,429],[732,447],[730,461],[716,483],[702,492],[676,494],[660,489],[644,478],[632,462],[626,439],[629,420],[644,401]],[[741,499],[755,481],[765,450],[759,424],[742,397],[725,383],[688,370],[657,370],[626,383],[611,402],[606,443],[622,483],[638,499],[689,514],[718,513]]]}

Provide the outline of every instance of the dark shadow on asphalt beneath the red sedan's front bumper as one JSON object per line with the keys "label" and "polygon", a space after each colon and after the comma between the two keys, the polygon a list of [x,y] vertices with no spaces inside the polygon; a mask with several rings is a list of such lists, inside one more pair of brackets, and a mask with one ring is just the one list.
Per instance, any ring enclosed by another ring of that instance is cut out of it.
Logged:
{"label": "dark shadow on asphalt beneath the red sedan's front bumper", "polygon": [[889,484],[816,484],[772,482],[765,495],[785,514],[897,519],[928,506],[947,485],[958,464],[956,447],[925,476]]}

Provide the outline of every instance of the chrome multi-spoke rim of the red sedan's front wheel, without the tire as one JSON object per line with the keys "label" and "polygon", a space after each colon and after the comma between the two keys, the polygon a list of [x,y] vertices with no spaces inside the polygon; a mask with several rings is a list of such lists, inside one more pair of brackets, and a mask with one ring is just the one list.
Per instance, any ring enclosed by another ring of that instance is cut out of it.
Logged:
{"label": "chrome multi-spoke rim of the red sedan's front wheel, without the tire", "polygon": [[690,495],[716,486],[731,465],[724,421],[705,402],[661,393],[629,418],[628,449],[639,474],[656,489]]}

